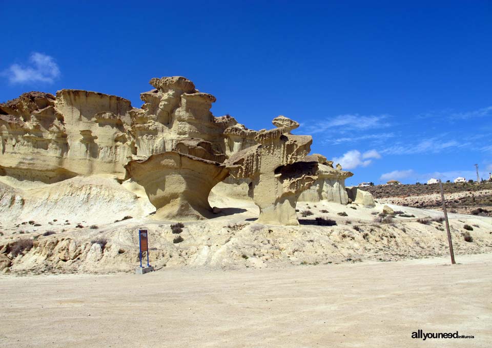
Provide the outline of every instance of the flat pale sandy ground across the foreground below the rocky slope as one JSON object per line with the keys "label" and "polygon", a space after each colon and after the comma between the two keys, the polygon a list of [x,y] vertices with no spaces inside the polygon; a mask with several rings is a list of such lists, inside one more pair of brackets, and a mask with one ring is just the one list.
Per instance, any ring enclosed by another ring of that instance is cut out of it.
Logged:
{"label": "flat pale sandy ground across the foreground below the rocky slope", "polygon": [[0,346],[489,347],[492,254],[457,261],[4,275]]}

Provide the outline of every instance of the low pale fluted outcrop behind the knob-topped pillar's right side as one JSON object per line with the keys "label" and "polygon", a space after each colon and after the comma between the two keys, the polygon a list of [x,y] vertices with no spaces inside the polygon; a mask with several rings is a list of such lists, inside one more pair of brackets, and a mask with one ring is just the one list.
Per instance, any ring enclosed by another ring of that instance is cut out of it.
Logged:
{"label": "low pale fluted outcrop behind the knob-topped pillar's right side", "polygon": [[326,157],[314,154],[319,162],[318,179],[311,188],[301,193],[299,201],[319,202],[329,201],[340,204],[348,203],[348,194],[345,191],[345,179],[354,175],[351,172],[333,168],[333,162]]}

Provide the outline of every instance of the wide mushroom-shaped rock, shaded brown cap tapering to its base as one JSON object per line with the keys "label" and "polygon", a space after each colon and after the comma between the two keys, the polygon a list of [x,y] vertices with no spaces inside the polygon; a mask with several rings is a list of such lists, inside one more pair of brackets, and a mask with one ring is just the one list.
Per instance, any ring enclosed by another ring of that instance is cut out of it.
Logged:
{"label": "wide mushroom-shaped rock, shaded brown cap tapering to its base", "polygon": [[125,165],[127,177],[145,188],[159,220],[200,220],[212,217],[210,190],[229,174],[216,161],[168,151]]}

